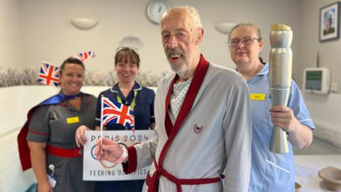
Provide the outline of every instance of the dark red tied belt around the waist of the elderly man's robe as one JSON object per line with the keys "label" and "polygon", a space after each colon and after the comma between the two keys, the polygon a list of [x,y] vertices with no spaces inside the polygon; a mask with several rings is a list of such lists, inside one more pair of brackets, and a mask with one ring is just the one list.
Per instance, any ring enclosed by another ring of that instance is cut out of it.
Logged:
{"label": "dark red tied belt around the waist of the elderly man's robe", "polygon": [[172,181],[176,185],[176,191],[182,192],[181,185],[200,185],[200,184],[208,184],[208,183],[217,183],[222,181],[225,176],[222,174],[220,177],[215,178],[176,178],[172,174],[168,173],[161,166],[156,164],[154,159],[154,165],[156,165],[156,171],[153,176],[149,176],[149,171],[146,178],[146,184],[148,186],[148,192],[157,192],[158,191],[158,182],[161,176],[165,176],[169,181]]}

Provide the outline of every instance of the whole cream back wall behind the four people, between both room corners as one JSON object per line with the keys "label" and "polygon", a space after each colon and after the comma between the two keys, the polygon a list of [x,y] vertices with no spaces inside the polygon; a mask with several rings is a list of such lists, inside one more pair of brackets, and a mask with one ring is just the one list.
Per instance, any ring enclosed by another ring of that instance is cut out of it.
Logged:
{"label": "whole cream back wall behind the four people, between both room corners", "polygon": [[[69,55],[82,50],[94,50],[97,57],[87,61],[87,69],[112,70],[114,51],[121,38],[136,36],[144,43],[140,50],[141,70],[151,70],[153,73],[170,70],[161,46],[160,27],[146,17],[149,0],[20,2],[25,37],[22,42],[23,60],[27,67],[38,69],[40,60],[60,65]],[[215,23],[254,22],[263,31],[265,41],[269,40],[271,23],[287,23],[298,31],[298,2],[295,0],[172,0],[169,3],[171,6],[195,6],[205,28],[202,53],[211,62],[230,68],[234,68],[234,64],[229,58],[227,35],[219,33]],[[266,10],[266,13],[262,10]],[[95,28],[84,31],[72,26],[70,19],[74,17],[96,18],[99,23]],[[269,43],[266,44],[262,55],[268,60]],[[296,46],[293,49],[296,50]]]}

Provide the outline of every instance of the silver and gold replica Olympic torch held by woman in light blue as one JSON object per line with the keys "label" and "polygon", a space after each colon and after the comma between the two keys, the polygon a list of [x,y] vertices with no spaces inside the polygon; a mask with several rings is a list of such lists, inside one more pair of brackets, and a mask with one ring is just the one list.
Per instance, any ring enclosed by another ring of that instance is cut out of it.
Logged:
{"label": "silver and gold replica Olympic torch held by woman in light blue", "polygon": [[[293,31],[290,26],[273,24],[270,33],[269,87],[272,105],[288,105],[291,88]],[[281,127],[274,126],[269,149],[276,154],[288,153],[288,138]]]}

